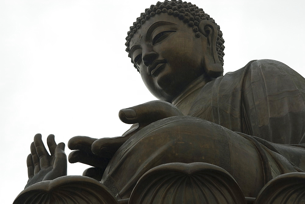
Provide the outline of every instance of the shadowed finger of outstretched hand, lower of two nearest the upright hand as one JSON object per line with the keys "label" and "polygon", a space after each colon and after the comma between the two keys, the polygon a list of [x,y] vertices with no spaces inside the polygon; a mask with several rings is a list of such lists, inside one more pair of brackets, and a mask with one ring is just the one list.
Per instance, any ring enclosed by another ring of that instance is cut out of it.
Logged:
{"label": "shadowed finger of outstretched hand, lower of two nearest the upright hand", "polygon": [[90,154],[81,150],[72,151],[68,157],[68,161],[72,164],[80,162],[98,168],[106,168],[109,160],[110,159],[99,157],[93,153]]}

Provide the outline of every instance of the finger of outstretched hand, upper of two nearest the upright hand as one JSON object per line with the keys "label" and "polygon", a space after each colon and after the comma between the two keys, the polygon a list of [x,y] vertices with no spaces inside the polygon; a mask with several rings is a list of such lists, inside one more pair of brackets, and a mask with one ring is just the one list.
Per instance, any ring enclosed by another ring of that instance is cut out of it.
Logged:
{"label": "finger of outstretched hand, upper of two nearest the upright hand", "polygon": [[72,137],[68,142],[70,150],[82,150],[91,153],[91,144],[97,139],[86,136]]}

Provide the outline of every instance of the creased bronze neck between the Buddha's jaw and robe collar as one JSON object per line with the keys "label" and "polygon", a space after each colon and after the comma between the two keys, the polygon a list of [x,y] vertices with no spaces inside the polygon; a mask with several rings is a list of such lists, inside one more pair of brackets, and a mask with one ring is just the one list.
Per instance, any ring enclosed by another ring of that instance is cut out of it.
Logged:
{"label": "creased bronze neck between the Buddha's jaw and robe collar", "polygon": [[175,105],[184,115],[187,115],[199,91],[204,85],[206,85],[206,83],[212,80],[213,78],[206,77],[205,74],[199,76],[192,81],[179,95],[177,95],[171,103]]}

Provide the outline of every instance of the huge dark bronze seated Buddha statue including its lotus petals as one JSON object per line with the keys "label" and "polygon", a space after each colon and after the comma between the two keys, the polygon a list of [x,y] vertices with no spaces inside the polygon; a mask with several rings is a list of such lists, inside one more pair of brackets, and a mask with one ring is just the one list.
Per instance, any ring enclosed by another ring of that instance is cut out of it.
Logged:
{"label": "huge dark bronze seated Buddha statue including its lotus petals", "polygon": [[69,162],[92,166],[83,176],[66,176],[54,135],[51,155],[35,135],[16,203],[305,203],[300,74],[254,60],[223,76],[220,27],[187,2],[151,5],[127,34],[128,56],[160,101],[120,110],[133,124],[121,137],[71,138]]}

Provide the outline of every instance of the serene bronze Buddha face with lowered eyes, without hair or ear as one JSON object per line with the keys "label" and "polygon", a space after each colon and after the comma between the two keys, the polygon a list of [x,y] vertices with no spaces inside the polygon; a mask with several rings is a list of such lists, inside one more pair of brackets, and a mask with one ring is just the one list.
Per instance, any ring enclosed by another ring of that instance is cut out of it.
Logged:
{"label": "serene bronze Buddha face with lowered eyes, without hair or ear", "polygon": [[171,102],[204,74],[204,36],[200,38],[178,17],[151,17],[130,41],[130,54],[146,87],[158,99]]}

